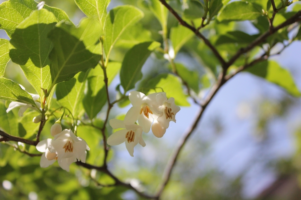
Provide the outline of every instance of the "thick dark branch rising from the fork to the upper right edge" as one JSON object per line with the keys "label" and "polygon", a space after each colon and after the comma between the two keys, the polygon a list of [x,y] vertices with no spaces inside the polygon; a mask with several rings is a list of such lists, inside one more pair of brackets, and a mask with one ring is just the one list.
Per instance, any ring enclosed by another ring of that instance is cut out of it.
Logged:
{"label": "thick dark branch rising from the fork to the upper right edge", "polygon": [[281,28],[284,28],[287,25],[293,24],[296,21],[300,20],[301,16],[301,10],[299,10],[295,15],[293,15],[292,17],[290,17],[289,19],[287,19],[285,22],[283,22],[282,24],[274,27],[272,30],[266,31],[264,34],[262,34],[261,36],[259,36],[256,40],[254,40],[250,45],[248,45],[245,48],[241,48],[239,49],[236,54],[228,61],[226,67],[228,68],[229,66],[231,66],[236,60],[237,58],[239,58],[242,54],[250,51],[251,49],[253,49],[255,46],[259,45],[260,43],[264,42],[265,39],[267,39],[267,37],[269,37],[270,35],[274,34],[276,31],[278,31]]}

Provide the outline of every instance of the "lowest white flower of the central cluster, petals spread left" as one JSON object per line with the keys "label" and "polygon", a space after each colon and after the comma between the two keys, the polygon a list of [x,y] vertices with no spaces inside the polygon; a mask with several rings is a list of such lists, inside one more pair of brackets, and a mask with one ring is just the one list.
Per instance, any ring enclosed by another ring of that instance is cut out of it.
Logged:
{"label": "lowest white flower of the central cluster, petals spread left", "polygon": [[124,121],[111,119],[110,125],[113,129],[123,128],[118,130],[107,139],[108,145],[119,145],[126,143],[126,149],[131,156],[134,156],[134,147],[138,144],[145,147],[145,142],[142,139],[142,127],[137,124],[125,124]]}

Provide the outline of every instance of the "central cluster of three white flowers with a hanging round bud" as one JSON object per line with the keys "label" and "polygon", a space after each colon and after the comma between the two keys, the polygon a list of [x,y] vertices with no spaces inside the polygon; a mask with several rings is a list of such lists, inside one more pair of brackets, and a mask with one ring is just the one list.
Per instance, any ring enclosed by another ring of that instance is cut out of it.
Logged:
{"label": "central cluster of three white flowers with a hanging round bud", "polygon": [[[167,99],[165,92],[145,95],[138,91],[129,93],[132,107],[126,113],[124,120],[111,119],[110,125],[113,129],[122,128],[113,133],[108,139],[108,145],[119,145],[126,143],[126,148],[131,156],[134,156],[134,147],[139,143],[142,147],[145,142],[142,132],[153,134],[160,138],[169,127],[169,122],[175,122],[175,115],[180,107],[175,105],[173,97]],[[138,121],[138,125],[136,122]]]}

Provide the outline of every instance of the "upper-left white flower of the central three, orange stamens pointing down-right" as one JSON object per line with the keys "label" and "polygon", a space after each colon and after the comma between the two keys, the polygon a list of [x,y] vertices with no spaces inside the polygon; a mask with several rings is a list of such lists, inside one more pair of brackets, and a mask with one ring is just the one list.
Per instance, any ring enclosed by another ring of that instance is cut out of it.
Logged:
{"label": "upper-left white flower of the central three, orange stamens pointing down-right", "polygon": [[[129,100],[133,107],[126,113],[124,123],[134,124],[138,120],[143,132],[148,133],[151,130],[153,119],[157,118],[153,109],[153,104],[156,104],[156,93],[145,96],[141,92],[132,91],[129,93]],[[160,105],[156,107],[158,106]]]}

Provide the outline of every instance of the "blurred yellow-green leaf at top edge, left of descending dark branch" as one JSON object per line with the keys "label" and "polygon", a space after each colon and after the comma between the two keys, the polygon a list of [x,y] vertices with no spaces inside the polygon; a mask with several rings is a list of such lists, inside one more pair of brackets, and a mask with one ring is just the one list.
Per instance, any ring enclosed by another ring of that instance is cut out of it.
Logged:
{"label": "blurred yellow-green leaf at top edge, left of descending dark branch", "polygon": [[149,0],[149,8],[159,20],[163,33],[167,34],[167,8],[159,0]]}

